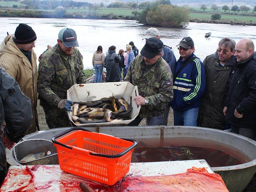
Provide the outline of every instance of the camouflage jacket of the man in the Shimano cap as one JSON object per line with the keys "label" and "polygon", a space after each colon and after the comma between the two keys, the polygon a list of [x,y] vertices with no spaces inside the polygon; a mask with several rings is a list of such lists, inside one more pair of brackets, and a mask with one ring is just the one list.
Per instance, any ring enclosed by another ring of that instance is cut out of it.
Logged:
{"label": "camouflage jacket of the man in the Shimano cap", "polygon": [[41,57],[38,67],[37,92],[42,103],[57,107],[67,99],[67,90],[74,84],[87,83],[83,56],[75,47],[70,56],[58,44]]}

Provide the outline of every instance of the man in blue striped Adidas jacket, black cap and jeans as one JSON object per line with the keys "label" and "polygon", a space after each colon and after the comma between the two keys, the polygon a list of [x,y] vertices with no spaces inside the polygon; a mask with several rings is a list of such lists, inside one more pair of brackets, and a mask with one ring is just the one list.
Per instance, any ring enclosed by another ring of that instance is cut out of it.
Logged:
{"label": "man in blue striped Adidas jacket, black cap and jeans", "polygon": [[194,54],[194,42],[184,37],[177,45],[180,58],[173,73],[174,125],[196,126],[201,98],[204,94],[206,78],[202,61]]}

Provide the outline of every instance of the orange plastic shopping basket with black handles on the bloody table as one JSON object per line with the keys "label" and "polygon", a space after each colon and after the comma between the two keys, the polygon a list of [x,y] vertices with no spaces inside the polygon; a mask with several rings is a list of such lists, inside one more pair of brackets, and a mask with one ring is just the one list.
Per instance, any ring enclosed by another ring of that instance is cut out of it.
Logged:
{"label": "orange plastic shopping basket with black handles on the bloody table", "polygon": [[60,169],[93,181],[113,185],[130,169],[136,140],[122,139],[83,128],[52,137]]}

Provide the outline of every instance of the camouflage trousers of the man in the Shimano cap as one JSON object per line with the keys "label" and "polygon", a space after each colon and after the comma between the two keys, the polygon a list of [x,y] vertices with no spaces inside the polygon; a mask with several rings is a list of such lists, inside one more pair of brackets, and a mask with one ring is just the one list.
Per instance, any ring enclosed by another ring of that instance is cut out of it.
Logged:
{"label": "camouflage trousers of the man in the Shimano cap", "polygon": [[42,102],[40,102],[40,105],[44,109],[45,120],[49,129],[73,126],[65,109],[49,107]]}

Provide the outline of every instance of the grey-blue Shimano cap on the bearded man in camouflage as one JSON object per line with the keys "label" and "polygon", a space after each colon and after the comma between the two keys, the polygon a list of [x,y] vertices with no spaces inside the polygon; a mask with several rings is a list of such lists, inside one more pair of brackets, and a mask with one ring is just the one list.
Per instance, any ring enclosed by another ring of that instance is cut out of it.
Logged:
{"label": "grey-blue Shimano cap on the bearded man in camouflage", "polygon": [[59,40],[63,42],[65,47],[79,47],[79,44],[77,42],[76,38],[76,32],[73,29],[70,28],[63,28],[59,32],[58,36]]}

